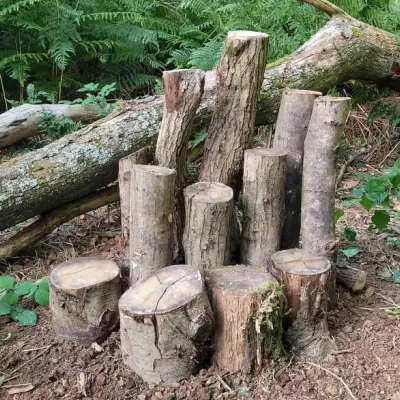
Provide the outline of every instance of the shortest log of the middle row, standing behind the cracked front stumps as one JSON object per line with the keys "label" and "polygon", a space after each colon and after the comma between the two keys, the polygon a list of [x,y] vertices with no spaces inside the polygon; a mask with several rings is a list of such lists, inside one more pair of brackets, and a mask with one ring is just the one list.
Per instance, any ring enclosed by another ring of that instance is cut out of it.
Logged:
{"label": "shortest log of the middle row, standing behind the cracked front stumps", "polygon": [[229,264],[233,190],[215,182],[185,189],[185,260],[201,271]]}

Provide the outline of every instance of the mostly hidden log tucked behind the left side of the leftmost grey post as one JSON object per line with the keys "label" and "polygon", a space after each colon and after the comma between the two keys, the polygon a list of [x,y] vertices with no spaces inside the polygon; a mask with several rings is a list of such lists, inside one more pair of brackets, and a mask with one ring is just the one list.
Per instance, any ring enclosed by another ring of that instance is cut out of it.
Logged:
{"label": "mostly hidden log tucked behind the left side of the leftmost grey post", "polygon": [[131,213],[131,169],[135,164],[150,164],[152,161],[152,147],[147,146],[135,153],[122,158],[118,164],[118,184],[121,209],[121,237],[125,250],[125,259],[121,264],[122,287],[129,286],[129,218]]}

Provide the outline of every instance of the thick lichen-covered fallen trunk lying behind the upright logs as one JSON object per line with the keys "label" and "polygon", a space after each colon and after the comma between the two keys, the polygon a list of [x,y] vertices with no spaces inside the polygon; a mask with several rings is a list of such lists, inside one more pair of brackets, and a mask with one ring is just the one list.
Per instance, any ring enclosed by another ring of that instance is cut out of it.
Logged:
{"label": "thick lichen-covered fallen trunk lying behind the upright logs", "polygon": [[[332,15],[295,53],[267,66],[258,123],[276,119],[285,87],[326,92],[349,79],[398,85],[399,36],[339,12]],[[206,79],[205,88],[210,94],[215,78],[209,73]],[[162,97],[129,102],[112,119],[97,121],[42,149],[3,163],[0,230],[115,180],[120,158],[156,141],[162,103]],[[212,97],[205,96],[197,113],[197,125],[209,121],[213,104]]]}

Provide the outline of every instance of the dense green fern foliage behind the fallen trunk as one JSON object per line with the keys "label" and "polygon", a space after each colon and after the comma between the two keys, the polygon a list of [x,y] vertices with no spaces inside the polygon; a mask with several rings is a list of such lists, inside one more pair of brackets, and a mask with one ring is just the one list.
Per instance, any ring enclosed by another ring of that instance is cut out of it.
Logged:
{"label": "dense green fern foliage behind the fallen trunk", "polygon": [[[398,0],[333,2],[400,32]],[[273,61],[326,21],[296,0],[0,0],[3,101],[23,101],[28,83],[56,100],[88,82],[117,82],[119,97],[134,97],[153,90],[165,68],[212,69],[229,30],[269,33]]]}

